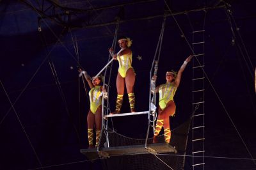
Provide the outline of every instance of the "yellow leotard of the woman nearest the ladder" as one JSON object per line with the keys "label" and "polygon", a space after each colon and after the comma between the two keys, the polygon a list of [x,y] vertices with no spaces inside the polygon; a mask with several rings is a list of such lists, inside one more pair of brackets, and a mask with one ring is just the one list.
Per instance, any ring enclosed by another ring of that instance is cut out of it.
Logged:
{"label": "yellow leotard of the woman nearest the ladder", "polygon": [[172,82],[161,84],[159,86],[159,106],[162,110],[166,107],[168,102],[171,100],[173,101],[176,90],[177,87],[173,86]]}

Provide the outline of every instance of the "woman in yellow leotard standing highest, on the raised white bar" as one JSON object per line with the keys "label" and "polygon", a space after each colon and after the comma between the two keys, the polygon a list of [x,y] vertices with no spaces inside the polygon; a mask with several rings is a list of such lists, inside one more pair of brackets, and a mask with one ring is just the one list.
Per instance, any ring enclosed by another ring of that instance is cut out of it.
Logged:
{"label": "woman in yellow leotard standing highest, on the raised white bar", "polygon": [[117,53],[113,53],[113,48],[109,49],[111,56],[118,61],[119,68],[116,77],[116,109],[115,112],[111,114],[116,114],[120,112],[124,96],[124,87],[128,93],[129,103],[131,107],[131,112],[135,112],[135,95],[133,93],[133,86],[135,82],[135,73],[132,68],[132,51],[129,48],[132,44],[130,38],[120,37],[118,39],[119,46],[121,50]]}

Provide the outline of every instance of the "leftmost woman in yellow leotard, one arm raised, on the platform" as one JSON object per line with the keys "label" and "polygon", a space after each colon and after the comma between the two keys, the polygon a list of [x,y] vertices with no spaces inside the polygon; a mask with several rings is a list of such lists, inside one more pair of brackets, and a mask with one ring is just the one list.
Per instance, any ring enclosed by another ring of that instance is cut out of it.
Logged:
{"label": "leftmost woman in yellow leotard, one arm raised, on the platform", "polygon": [[79,69],[81,75],[84,76],[88,85],[90,86],[89,97],[90,97],[90,110],[87,115],[87,127],[88,127],[88,148],[93,147],[93,125],[95,123],[96,130],[96,143],[95,147],[99,146],[100,130],[101,130],[101,103],[102,103],[102,93],[106,97],[106,89],[100,86],[102,81],[101,76],[93,77],[93,79],[85,71]]}

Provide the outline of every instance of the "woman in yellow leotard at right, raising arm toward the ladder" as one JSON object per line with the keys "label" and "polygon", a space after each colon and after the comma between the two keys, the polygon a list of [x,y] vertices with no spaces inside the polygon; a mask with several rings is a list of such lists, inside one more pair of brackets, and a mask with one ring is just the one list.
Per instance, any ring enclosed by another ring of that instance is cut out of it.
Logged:
{"label": "woman in yellow leotard at right, raising arm toward the ladder", "polygon": [[[170,143],[171,129],[169,117],[175,114],[176,105],[173,101],[175,92],[180,84],[182,72],[186,68],[186,65],[191,61],[192,56],[189,56],[180,67],[178,73],[171,71],[166,72],[166,84],[161,84],[156,87],[156,93],[159,93],[159,111],[156,122],[156,128],[154,132],[153,143],[157,143],[157,135],[164,127],[164,141]],[[156,81],[156,76],[152,77],[153,81]]]}

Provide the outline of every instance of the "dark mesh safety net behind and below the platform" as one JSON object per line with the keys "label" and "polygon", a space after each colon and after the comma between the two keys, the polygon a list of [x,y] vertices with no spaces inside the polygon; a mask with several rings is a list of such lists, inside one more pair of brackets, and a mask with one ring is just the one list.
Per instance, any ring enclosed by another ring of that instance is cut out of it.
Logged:
{"label": "dark mesh safety net behind and below the platform", "polygon": [[[175,146],[177,155],[175,153],[161,153],[140,154],[140,155],[120,155],[104,159],[105,169],[184,169],[185,157],[180,155],[186,154],[186,145],[188,139],[190,120],[186,121],[179,127],[172,130],[171,145]],[[106,133],[102,135],[100,147],[106,146]],[[138,144],[145,144],[145,139],[134,139],[118,134],[116,132],[109,132],[109,147],[115,146],[131,146]],[[159,143],[164,142],[164,135],[159,135]],[[148,139],[148,144],[152,143],[152,138]],[[158,158],[157,158],[158,157]],[[161,159],[161,160],[159,160]],[[166,164],[168,166],[166,166]]]}

